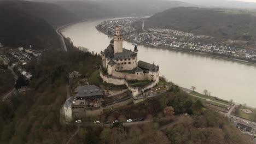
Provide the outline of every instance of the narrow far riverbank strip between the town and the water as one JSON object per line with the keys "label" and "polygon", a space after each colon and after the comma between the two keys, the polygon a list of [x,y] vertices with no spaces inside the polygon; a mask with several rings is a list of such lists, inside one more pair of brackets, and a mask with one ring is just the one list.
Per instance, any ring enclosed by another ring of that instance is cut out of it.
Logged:
{"label": "narrow far riverbank strip between the town and the water", "polygon": [[[102,29],[99,29],[95,26],[95,28],[99,31],[99,32],[102,32],[110,37],[112,37],[112,35],[104,32]],[[130,43],[135,43],[135,41],[132,41],[130,39],[125,39],[124,40],[126,41],[129,41]],[[218,58],[218,59],[225,59],[225,60],[228,60],[228,61],[232,61],[232,62],[238,62],[238,63],[243,63],[243,64],[248,64],[248,65],[255,65],[256,66],[256,63],[253,63],[253,62],[248,62],[248,61],[244,61],[242,59],[237,59],[237,58],[228,58],[228,57],[222,57],[222,56],[216,56],[216,55],[211,55],[209,53],[202,53],[202,52],[195,52],[195,51],[189,51],[189,50],[181,50],[181,49],[175,49],[175,48],[172,48],[172,47],[158,47],[158,46],[153,46],[153,45],[149,45],[149,44],[143,44],[143,43],[137,43],[138,45],[143,45],[143,46],[148,46],[148,47],[151,47],[152,49],[164,49],[164,50],[171,50],[171,51],[179,51],[179,52],[186,52],[186,53],[193,53],[195,55],[203,55],[203,56],[209,56],[209,57],[213,57],[213,58]]]}

